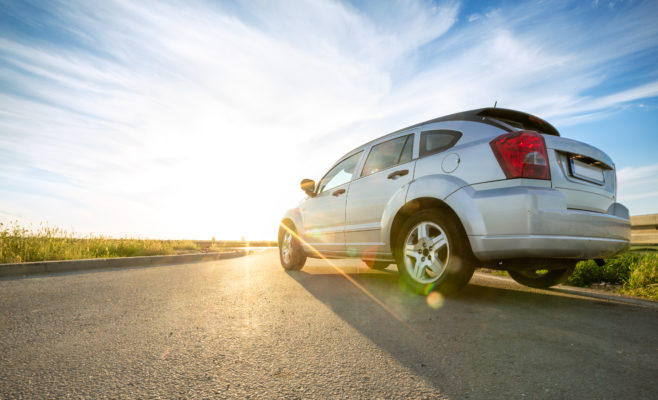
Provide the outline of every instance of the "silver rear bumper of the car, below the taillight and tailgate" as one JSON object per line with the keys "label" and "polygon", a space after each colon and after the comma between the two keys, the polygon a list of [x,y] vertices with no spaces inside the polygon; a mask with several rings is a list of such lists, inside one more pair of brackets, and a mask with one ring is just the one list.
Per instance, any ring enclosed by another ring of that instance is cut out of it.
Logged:
{"label": "silver rear bumper of the car, below the taillight and tailgate", "polygon": [[476,188],[460,189],[446,200],[482,261],[610,257],[630,246],[628,210],[621,204],[596,213],[567,209],[564,196],[549,187]]}

